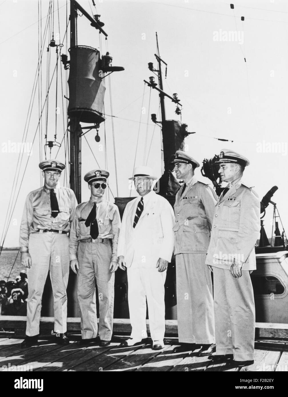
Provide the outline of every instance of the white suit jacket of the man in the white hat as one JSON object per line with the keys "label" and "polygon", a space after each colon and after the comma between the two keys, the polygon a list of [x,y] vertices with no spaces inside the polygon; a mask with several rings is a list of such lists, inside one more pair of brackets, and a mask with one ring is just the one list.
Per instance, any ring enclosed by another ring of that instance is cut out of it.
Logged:
{"label": "white suit jacket of the man in the white hat", "polygon": [[174,248],[175,223],[172,206],[166,198],[151,191],[143,197],[143,212],[133,229],[138,202],[128,202],[124,210],[118,239],[117,256],[123,255],[126,266],[156,267],[159,258],[170,262]]}

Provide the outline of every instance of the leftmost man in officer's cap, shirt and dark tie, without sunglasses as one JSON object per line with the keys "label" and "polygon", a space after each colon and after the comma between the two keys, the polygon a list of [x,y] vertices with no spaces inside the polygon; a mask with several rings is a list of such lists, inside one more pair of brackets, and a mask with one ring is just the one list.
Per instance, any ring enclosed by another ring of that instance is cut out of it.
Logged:
{"label": "leftmost man in officer's cap, shirt and dark tie, without sunglasses", "polygon": [[50,271],[54,298],[56,343],[69,343],[67,330],[67,295],[69,276],[68,233],[77,206],[71,189],[58,187],[65,164],[44,160],[39,164],[44,186],[26,198],[20,226],[21,263],[28,269],[26,338],[22,347],[38,341],[42,294]]}

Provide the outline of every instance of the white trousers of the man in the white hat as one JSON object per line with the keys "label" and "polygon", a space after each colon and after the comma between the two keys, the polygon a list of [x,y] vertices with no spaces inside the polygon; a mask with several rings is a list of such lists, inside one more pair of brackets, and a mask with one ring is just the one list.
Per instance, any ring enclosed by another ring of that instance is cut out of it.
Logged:
{"label": "white trousers of the man in the white hat", "polygon": [[131,338],[147,338],[147,299],[151,338],[153,341],[162,340],[165,333],[166,270],[158,272],[158,268],[133,267],[132,263],[131,267],[127,268],[127,278]]}

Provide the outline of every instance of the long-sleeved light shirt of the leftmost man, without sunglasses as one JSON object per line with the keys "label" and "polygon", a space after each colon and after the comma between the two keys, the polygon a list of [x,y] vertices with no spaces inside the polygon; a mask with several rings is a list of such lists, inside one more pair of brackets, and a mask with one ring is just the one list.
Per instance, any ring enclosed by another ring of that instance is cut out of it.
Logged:
{"label": "long-sleeved light shirt of the leftmost man, without sunglasses", "polygon": [[26,198],[20,225],[20,251],[28,251],[29,235],[38,229],[70,231],[77,200],[73,190],[68,187],[55,188],[59,214],[51,216],[50,190],[40,187],[29,193]]}

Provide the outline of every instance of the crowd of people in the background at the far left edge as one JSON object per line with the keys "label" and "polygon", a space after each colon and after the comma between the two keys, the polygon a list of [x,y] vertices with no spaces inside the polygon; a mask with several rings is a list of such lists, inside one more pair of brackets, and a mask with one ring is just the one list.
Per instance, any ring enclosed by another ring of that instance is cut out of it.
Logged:
{"label": "crowd of people in the background at the far left edge", "polygon": [[0,313],[3,316],[26,316],[28,298],[27,271],[14,280],[0,280]]}

